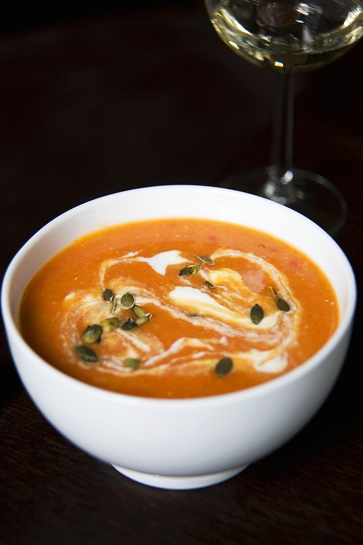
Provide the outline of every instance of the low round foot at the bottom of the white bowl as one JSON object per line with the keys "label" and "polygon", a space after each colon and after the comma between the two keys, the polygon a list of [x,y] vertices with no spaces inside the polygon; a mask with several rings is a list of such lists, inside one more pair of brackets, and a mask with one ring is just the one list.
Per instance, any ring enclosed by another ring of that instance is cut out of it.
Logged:
{"label": "low round foot at the bottom of the white bowl", "polygon": [[190,477],[169,477],[167,475],[154,475],[152,473],[140,473],[132,469],[121,468],[119,465],[113,467],[122,475],[143,483],[143,485],[155,486],[157,488],[168,488],[171,490],[190,490],[192,488],[203,488],[205,486],[217,485],[241,473],[249,464],[241,465],[238,468],[219,471],[219,473],[208,473],[207,475],[192,475]]}

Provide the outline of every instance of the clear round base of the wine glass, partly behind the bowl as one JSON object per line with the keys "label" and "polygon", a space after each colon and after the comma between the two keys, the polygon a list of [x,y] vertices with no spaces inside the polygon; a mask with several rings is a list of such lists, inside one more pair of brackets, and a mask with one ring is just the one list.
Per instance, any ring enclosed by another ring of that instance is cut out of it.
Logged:
{"label": "clear round base of the wine glass, partly behind the bowl", "polygon": [[225,178],[220,187],[253,193],[286,205],[309,217],[330,235],[335,235],[347,219],[347,203],[341,192],[326,178],[293,168],[293,179],[276,194],[270,167],[256,168]]}

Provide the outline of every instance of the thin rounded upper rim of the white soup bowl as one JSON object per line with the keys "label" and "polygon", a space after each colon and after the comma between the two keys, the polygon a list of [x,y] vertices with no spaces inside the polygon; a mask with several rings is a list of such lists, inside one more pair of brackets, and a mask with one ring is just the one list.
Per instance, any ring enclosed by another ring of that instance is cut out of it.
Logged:
{"label": "thin rounded upper rim of the white soup bowl", "polygon": [[[141,404],[141,405],[147,405],[149,407],[150,405],[152,405],[154,407],[168,407],[168,408],[173,407],[173,409],[174,408],[182,409],[182,408],[186,408],[187,406],[202,407],[202,406],[210,405],[210,404],[216,405],[216,404],[236,403],[241,398],[247,399],[253,396],[263,395],[264,393],[268,393],[268,392],[271,392],[272,390],[279,389],[279,387],[284,387],[285,385],[292,383],[295,380],[299,380],[300,377],[304,376],[305,374],[309,373],[313,368],[317,367],[325,358],[327,358],[329,353],[334,351],[336,346],[340,343],[343,336],[346,334],[347,330],[349,329],[350,324],[353,322],[355,306],[356,306],[356,281],[355,281],[355,276],[354,276],[352,266],[350,265],[347,256],[344,254],[344,252],[342,251],[340,246],[336,243],[336,241],[333,238],[331,238],[330,235],[326,233],[316,223],[312,222],[309,218],[307,218],[306,216],[303,216],[302,214],[299,214],[298,212],[292,209],[287,209],[286,207],[284,207],[284,209],[288,210],[288,214],[297,215],[300,217],[302,221],[311,223],[314,226],[314,228],[317,229],[320,235],[325,237],[327,242],[330,245],[333,245],[335,247],[335,251],[337,251],[340,254],[342,264],[346,268],[346,273],[347,273],[346,280],[347,280],[347,285],[349,288],[348,298],[347,298],[348,299],[347,310],[344,313],[344,315],[341,316],[337,329],[335,330],[333,335],[328,339],[328,341],[315,354],[311,356],[311,358],[307,359],[296,368],[280,375],[279,377],[274,377],[266,381],[265,383],[257,384],[255,386],[250,386],[244,390],[236,390],[233,392],[221,393],[221,394],[212,395],[212,396],[200,396],[200,397],[189,397],[189,398],[146,397],[146,396],[137,396],[137,395],[131,395],[131,394],[122,393],[122,392],[106,390],[99,386],[94,386],[92,384],[85,383],[82,380],[76,379],[70,376],[69,374],[66,374],[63,371],[60,371],[58,368],[54,367],[53,365],[48,363],[46,360],[41,358],[41,356],[39,356],[28,345],[28,343],[22,337],[20,330],[17,328],[17,325],[15,323],[15,317],[13,316],[13,313],[10,310],[10,285],[11,285],[11,281],[13,279],[14,273],[19,263],[21,262],[21,259],[26,255],[28,251],[32,249],[34,244],[38,242],[38,240],[40,240],[52,228],[57,227],[59,223],[62,223],[63,221],[70,219],[72,216],[77,215],[81,209],[87,209],[87,207],[94,206],[95,203],[97,202],[101,202],[105,199],[109,199],[124,193],[150,191],[150,190],[162,191],[163,189],[165,190],[170,188],[173,188],[173,190],[178,190],[178,189],[184,190],[186,188],[190,188],[190,190],[204,190],[208,192],[214,191],[218,193],[232,192],[233,194],[238,193],[238,195],[242,195],[244,199],[250,200],[251,202],[254,202],[254,201],[260,202],[261,200],[267,201],[267,203],[269,203],[268,205],[271,205],[272,207],[276,206],[279,208],[279,210],[281,209],[280,207],[283,206],[273,201],[268,201],[268,199],[264,199],[263,197],[251,195],[250,193],[244,193],[242,191],[236,191],[236,190],[227,189],[224,187],[214,187],[214,186],[208,186],[208,185],[195,185],[195,184],[177,184],[177,185],[165,184],[165,185],[138,187],[135,189],[110,193],[108,195],[103,195],[101,197],[91,199],[90,201],[86,201],[84,203],[78,204],[76,207],[66,210],[64,213],[54,217],[54,219],[52,219],[51,221],[46,223],[43,227],[41,227],[38,231],[36,231],[32,235],[32,237],[30,237],[26,241],[26,243],[24,243],[20,247],[20,249],[14,255],[13,259],[11,259],[7,267],[7,270],[5,271],[3,282],[2,282],[2,289],[1,289],[1,308],[2,308],[2,314],[3,314],[3,321],[5,324],[5,330],[7,332],[8,337],[9,338],[12,337],[13,340],[19,344],[23,353],[25,352],[29,354],[29,358],[32,360],[32,365],[35,365],[42,371],[46,371],[52,378],[58,381],[63,381],[68,386],[71,386],[74,389],[81,389],[81,391],[84,391],[85,393],[89,393],[90,395],[97,396],[100,398],[107,398],[116,403],[127,403],[132,405]],[[267,205],[266,203],[264,204]],[[135,221],[143,221],[143,220],[135,220]],[[220,220],[220,221],[223,221],[223,220]],[[97,229],[95,229],[95,231],[96,230]],[[276,238],[281,238],[281,240],[284,240],[282,237],[276,237]],[[57,250],[57,252],[58,251],[59,250]],[[14,362],[14,365],[17,369],[17,364],[15,362]]]}

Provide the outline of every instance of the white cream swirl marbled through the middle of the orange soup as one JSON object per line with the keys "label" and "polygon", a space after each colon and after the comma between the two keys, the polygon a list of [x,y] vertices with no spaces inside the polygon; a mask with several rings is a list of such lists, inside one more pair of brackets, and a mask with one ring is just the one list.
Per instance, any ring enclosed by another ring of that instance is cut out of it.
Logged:
{"label": "white cream swirl marbled through the middle of the orange soup", "polygon": [[[141,360],[138,373],[160,374],[173,368],[177,373],[194,374],[210,370],[221,356],[232,358],[236,369],[253,368],[264,373],[285,370],[287,348],[296,337],[300,319],[296,297],[280,270],[252,253],[218,249],[211,256],[213,267],[203,267],[196,275],[182,277],[176,265],[190,263],[182,251],[171,250],[149,257],[140,253],[131,252],[104,261],[99,271],[99,285],[93,292],[72,292],[65,297],[63,325],[67,324],[67,334],[61,331],[61,336],[70,355],[74,345],[79,343],[79,324],[95,324],[119,316],[118,311],[110,313],[111,305],[100,296],[108,287],[116,299],[131,292],[138,305],[152,311],[155,324],[158,316],[167,314],[176,334],[169,342],[162,341],[151,322],[150,326],[131,331],[118,328],[103,334],[100,363],[96,367],[101,372],[128,376],[131,370],[124,366],[124,360],[137,358]],[[225,266],[226,259],[229,267]],[[150,289],[137,280],[137,275],[126,274],[136,263],[165,278],[160,282],[160,290]],[[198,276],[200,281],[197,282]],[[276,295],[268,289],[272,286],[279,298],[288,303],[287,312],[276,306]],[[256,302],[266,308],[259,324],[253,323],[249,314]],[[121,313],[122,318],[125,321],[126,314]],[[178,323],[192,326],[193,335],[177,335]],[[76,361],[78,365],[87,366]]]}

